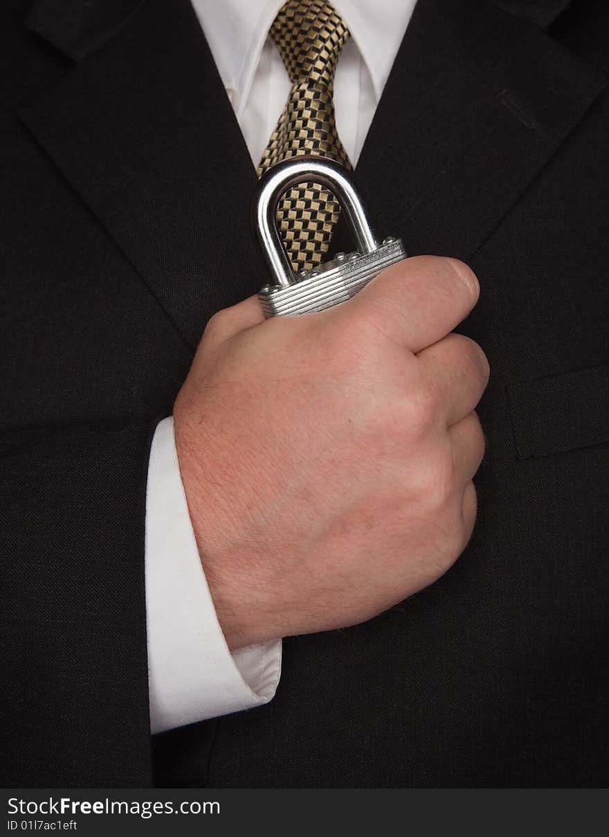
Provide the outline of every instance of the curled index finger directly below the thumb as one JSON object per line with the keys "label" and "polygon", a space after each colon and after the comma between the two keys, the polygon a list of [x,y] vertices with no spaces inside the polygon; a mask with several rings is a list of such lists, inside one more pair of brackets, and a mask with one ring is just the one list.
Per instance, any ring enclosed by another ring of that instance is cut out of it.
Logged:
{"label": "curled index finger directly below the thumb", "polygon": [[488,384],[488,360],[476,342],[449,334],[416,356],[427,382],[440,394],[446,424],[472,412]]}

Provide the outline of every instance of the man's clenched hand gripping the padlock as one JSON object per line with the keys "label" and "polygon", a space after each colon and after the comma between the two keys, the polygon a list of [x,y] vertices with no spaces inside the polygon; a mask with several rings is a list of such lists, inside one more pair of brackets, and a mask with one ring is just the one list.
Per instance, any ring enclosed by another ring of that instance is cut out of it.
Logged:
{"label": "man's clenched hand gripping the padlock", "polygon": [[204,332],[174,407],[199,553],[230,648],[364,621],[467,544],[488,362],[449,332],[477,302],[456,259],[406,259],[328,311]]}

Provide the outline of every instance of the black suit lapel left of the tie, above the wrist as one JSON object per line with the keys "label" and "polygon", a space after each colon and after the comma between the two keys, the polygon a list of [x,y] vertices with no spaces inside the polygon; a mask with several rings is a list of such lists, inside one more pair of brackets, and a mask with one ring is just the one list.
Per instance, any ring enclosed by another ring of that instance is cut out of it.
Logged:
{"label": "black suit lapel left of the tie, above the wrist", "polygon": [[263,284],[255,171],[188,0],[117,7],[126,19],[67,34],[33,13],[32,28],[83,58],[20,116],[195,346],[210,314]]}

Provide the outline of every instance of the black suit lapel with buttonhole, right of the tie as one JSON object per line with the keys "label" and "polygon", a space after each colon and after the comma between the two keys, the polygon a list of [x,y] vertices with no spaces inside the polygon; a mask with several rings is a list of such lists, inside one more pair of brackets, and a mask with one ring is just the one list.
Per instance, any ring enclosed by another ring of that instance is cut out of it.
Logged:
{"label": "black suit lapel with buttonhole, right of the tie", "polygon": [[470,258],[606,85],[530,22],[564,0],[523,6],[415,7],[356,170],[410,254]]}

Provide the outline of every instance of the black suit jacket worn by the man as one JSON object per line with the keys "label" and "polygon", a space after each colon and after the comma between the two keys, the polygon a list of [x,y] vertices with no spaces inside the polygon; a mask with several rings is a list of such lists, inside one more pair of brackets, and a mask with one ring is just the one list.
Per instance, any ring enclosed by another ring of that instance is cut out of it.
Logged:
{"label": "black suit jacket worn by the man", "polygon": [[357,166],[382,234],[482,285],[470,546],[286,639],[268,706],[152,745],[148,450],[209,316],[266,280],[255,172],[188,0],[4,5],[4,784],[606,783],[609,18],[567,5],[419,0]]}

